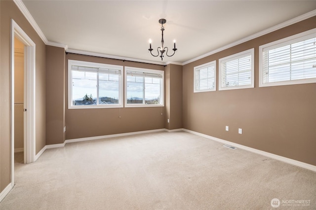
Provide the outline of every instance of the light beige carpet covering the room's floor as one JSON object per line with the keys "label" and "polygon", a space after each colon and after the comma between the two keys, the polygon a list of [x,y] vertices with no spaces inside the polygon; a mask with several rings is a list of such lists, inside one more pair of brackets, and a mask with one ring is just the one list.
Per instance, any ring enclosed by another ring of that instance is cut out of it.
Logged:
{"label": "light beige carpet covering the room's floor", "polygon": [[68,143],[15,181],[1,210],[316,209],[315,172],[186,132]]}

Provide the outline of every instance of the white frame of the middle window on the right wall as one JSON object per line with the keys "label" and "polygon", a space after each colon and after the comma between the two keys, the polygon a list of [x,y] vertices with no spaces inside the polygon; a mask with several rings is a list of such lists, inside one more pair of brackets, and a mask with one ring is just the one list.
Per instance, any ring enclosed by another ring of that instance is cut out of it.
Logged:
{"label": "white frame of the middle window on the right wall", "polygon": [[[222,65],[229,61],[234,61],[246,56],[251,56],[251,84],[248,85],[236,85],[231,87],[222,87]],[[254,48],[251,48],[249,50],[245,50],[239,53],[236,53],[234,55],[230,55],[224,58],[221,58],[218,60],[219,63],[219,85],[218,90],[234,90],[234,89],[244,89],[244,88],[253,88],[254,87]]]}

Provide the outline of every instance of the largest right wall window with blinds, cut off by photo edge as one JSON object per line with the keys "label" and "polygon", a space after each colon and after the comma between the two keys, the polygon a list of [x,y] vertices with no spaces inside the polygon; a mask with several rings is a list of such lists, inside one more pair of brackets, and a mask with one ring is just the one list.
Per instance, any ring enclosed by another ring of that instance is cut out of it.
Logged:
{"label": "largest right wall window with blinds, cut off by photo edge", "polygon": [[259,86],[316,82],[316,30],[259,47]]}

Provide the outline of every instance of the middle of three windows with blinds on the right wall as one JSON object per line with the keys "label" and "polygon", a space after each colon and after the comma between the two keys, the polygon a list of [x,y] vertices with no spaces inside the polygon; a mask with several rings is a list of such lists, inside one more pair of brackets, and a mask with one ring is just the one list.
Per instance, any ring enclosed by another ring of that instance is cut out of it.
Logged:
{"label": "middle of three windows with blinds on the right wall", "polygon": [[219,59],[219,90],[254,87],[254,48]]}

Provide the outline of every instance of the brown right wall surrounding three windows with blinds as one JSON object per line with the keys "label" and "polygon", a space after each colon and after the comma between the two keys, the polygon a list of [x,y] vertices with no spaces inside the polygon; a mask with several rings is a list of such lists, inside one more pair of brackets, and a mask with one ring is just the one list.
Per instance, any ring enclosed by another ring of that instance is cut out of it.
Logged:
{"label": "brown right wall surrounding three windows with blinds", "polygon": [[[316,17],[183,67],[183,127],[316,166],[316,83],[259,88],[259,46],[316,27]],[[255,88],[193,93],[193,68],[255,48]],[[229,132],[225,131],[229,126]],[[242,128],[242,134],[238,134]]]}

